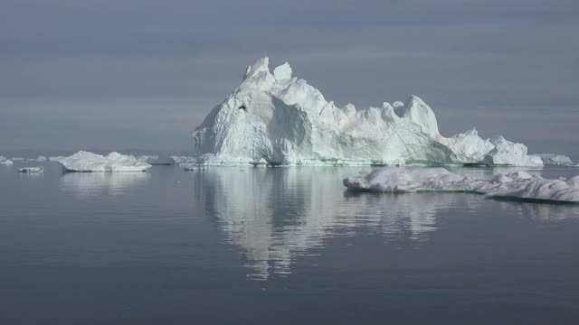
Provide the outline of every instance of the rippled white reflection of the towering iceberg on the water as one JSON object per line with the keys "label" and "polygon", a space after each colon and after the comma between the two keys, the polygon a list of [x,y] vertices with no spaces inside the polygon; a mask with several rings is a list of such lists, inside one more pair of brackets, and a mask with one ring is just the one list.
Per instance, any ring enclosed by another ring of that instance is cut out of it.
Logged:
{"label": "rippled white reflection of the towering iceberg on the water", "polygon": [[[479,196],[347,193],[335,168],[235,168],[198,173],[195,200],[218,218],[229,240],[245,250],[252,275],[288,274],[299,255],[315,254],[330,237],[378,231],[386,240],[427,239],[445,207],[469,207]],[[464,202],[457,202],[462,200]],[[472,201],[472,203],[470,203]]]}

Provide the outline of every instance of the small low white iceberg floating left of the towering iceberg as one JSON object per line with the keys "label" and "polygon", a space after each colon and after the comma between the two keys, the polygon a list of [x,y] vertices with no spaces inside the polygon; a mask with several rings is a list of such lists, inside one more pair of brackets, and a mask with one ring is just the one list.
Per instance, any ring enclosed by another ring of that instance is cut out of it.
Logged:
{"label": "small low white iceberg floating left of the towering iceberg", "polygon": [[151,165],[138,161],[133,155],[78,152],[58,160],[69,172],[146,172]]}

